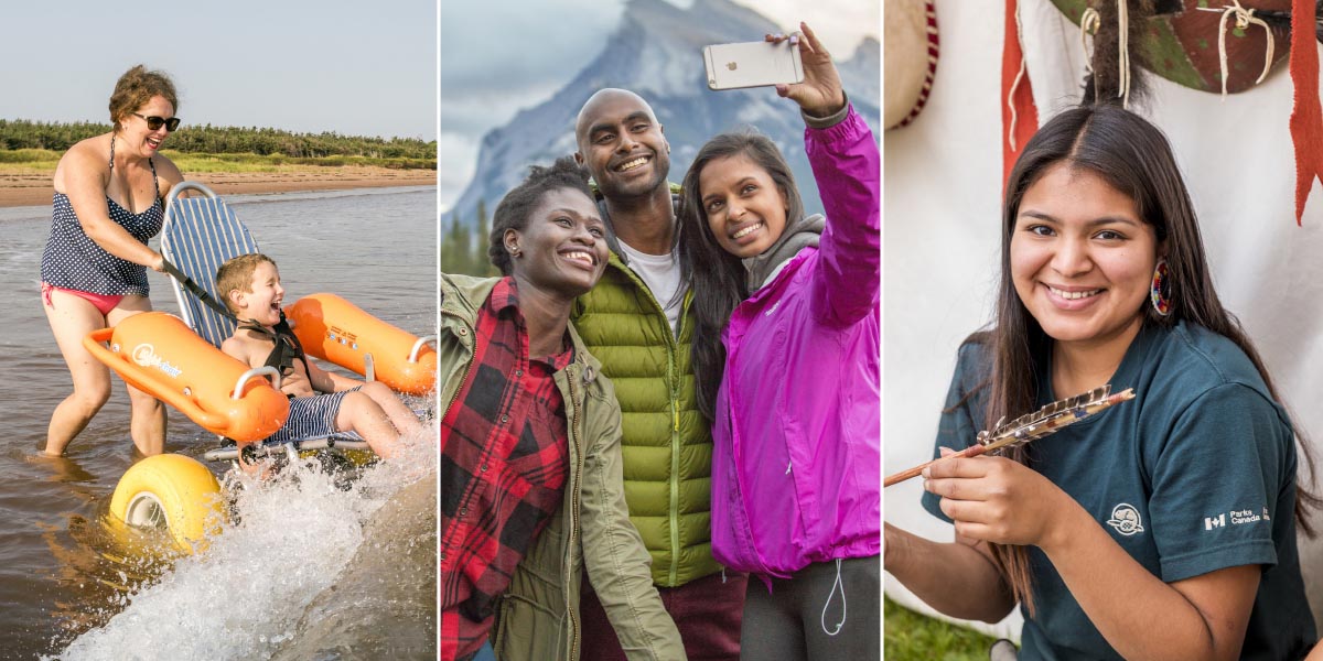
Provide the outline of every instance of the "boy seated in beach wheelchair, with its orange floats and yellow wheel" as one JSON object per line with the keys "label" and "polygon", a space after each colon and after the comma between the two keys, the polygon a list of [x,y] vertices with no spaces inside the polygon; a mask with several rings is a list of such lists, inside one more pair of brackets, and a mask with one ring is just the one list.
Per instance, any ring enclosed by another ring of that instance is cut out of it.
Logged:
{"label": "boy seated in beach wheelchair, with its orange floats and yellow wheel", "polygon": [[[220,350],[164,312],[138,315],[83,342],[126,382],[218,434],[222,447],[202,453],[204,460],[233,460],[249,475],[267,476],[286,460],[311,456],[348,488],[368,449],[389,457],[400,449],[401,434],[421,430],[418,416],[392,389],[427,393],[435,378],[435,353],[423,352],[427,338],[389,327],[343,299],[315,293],[288,308],[303,333],[300,341],[280,313],[284,291],[270,258],[242,255],[220,271],[217,290],[224,295],[217,297],[241,320]],[[304,344],[318,358],[384,379],[364,383],[327,373],[307,360]],[[373,361],[373,352],[384,360]],[[329,394],[318,395],[319,390]],[[274,461],[258,464],[261,456]],[[200,461],[156,455],[124,473],[110,514],[131,527],[167,530],[176,551],[196,553],[224,520],[238,514],[224,506],[225,490]]]}

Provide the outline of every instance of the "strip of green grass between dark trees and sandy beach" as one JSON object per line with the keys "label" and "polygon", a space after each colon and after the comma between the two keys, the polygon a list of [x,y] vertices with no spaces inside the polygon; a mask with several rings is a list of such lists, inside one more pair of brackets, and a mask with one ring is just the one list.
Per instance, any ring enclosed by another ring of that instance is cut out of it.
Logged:
{"label": "strip of green grass between dark trees and sandy beach", "polygon": [[[315,168],[377,167],[390,169],[437,169],[434,159],[377,159],[368,156],[323,156],[296,159],[284,155],[257,153],[181,153],[161,152],[184,172],[288,172]],[[0,175],[54,173],[61,152],[52,149],[0,149]]]}

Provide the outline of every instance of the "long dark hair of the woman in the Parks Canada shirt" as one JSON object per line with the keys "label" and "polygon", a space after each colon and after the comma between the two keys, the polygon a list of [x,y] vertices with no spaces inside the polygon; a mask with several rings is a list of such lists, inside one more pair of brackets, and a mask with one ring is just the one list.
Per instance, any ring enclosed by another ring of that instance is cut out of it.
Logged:
{"label": "long dark hair of the woman in the Parks Canada shirt", "polygon": [[[1025,190],[1056,164],[1068,164],[1101,177],[1134,200],[1139,217],[1150,223],[1158,241],[1167,242],[1167,267],[1171,283],[1171,315],[1160,316],[1151,305],[1143,307],[1144,327],[1172,327],[1180,320],[1199,324],[1221,334],[1254,364],[1273,399],[1281,402],[1273,379],[1240,321],[1222,307],[1204,255],[1204,241],[1185,182],[1172,156],[1167,137],[1155,126],[1130,111],[1111,104],[1077,107],[1061,112],[1043,126],[1024,147],[1005,186],[1002,208],[1002,278],[998,287],[995,320],[991,329],[970,336],[990,349],[991,371],[986,386],[987,414],[984,428],[991,428],[1003,415],[1013,418],[1033,410],[1037,403],[1039,375],[1046,366],[1052,338],[1029,315],[1016,295],[1011,278],[1011,237]],[[1311,452],[1294,427],[1303,461],[1311,464]],[[1009,455],[1031,464],[1023,449]],[[1306,520],[1320,500],[1306,490],[1297,471],[1297,525],[1312,537]],[[1029,590],[1028,553],[1024,546],[991,545],[992,555],[1002,564],[1015,596],[1033,612]]]}

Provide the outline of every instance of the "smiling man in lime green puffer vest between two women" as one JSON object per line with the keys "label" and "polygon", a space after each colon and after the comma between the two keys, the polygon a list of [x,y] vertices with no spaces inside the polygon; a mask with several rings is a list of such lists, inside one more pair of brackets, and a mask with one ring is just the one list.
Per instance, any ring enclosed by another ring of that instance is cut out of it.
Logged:
{"label": "smiling man in lime green puffer vest between two women", "polygon": [[[699,412],[689,344],[693,319],[671,254],[675,204],[671,145],[638,94],[606,89],[574,126],[574,155],[597,182],[611,255],[597,287],[572,312],[613,379],[623,412],[630,521],[652,557],[652,582],[689,658],[738,658],[746,576],[712,558],[712,434]],[[583,658],[624,660],[587,582]]]}

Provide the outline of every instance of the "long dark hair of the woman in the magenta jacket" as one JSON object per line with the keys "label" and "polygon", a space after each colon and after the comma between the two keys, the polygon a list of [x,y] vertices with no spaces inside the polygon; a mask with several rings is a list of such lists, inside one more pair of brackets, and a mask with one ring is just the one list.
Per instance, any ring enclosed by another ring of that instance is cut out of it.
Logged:
{"label": "long dark hair of the woman in the magenta jacket", "polygon": [[693,292],[695,327],[689,357],[693,364],[699,411],[709,420],[714,416],[717,390],[721,389],[721,375],[726,368],[726,348],[721,344],[721,332],[730,321],[736,305],[749,296],[749,286],[744,263],[726,253],[708,229],[708,213],[703,209],[699,177],[712,161],[730,156],[747,157],[771,177],[786,196],[787,226],[804,215],[804,202],[799,197],[790,164],[777,145],[762,135],[721,134],[708,140],[693,157],[689,172],[684,175],[684,182],[680,185],[680,209],[676,212],[679,222],[673,250],[680,255],[683,280],[679,292]]}

